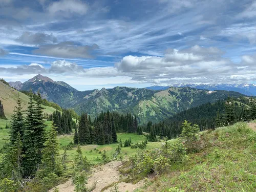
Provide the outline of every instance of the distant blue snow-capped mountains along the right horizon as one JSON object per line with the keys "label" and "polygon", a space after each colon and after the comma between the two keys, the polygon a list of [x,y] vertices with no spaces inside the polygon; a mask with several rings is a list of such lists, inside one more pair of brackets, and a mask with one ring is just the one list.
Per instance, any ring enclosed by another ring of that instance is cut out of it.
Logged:
{"label": "distant blue snow-capped mountains along the right horizon", "polygon": [[[172,87],[190,87],[202,90],[224,90],[235,91],[248,96],[256,96],[256,84],[193,84],[193,83],[178,83],[173,84]],[[151,90],[167,90],[169,86],[152,86],[146,89]]]}

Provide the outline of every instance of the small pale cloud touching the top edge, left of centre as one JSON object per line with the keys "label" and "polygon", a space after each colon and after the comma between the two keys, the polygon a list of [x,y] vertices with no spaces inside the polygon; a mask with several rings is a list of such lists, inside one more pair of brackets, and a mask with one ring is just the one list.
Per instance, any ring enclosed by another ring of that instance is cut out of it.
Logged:
{"label": "small pale cloud touching the top edge, left of centre", "polygon": [[53,2],[48,7],[51,15],[70,17],[73,14],[84,15],[88,11],[88,5],[79,0],[61,0]]}

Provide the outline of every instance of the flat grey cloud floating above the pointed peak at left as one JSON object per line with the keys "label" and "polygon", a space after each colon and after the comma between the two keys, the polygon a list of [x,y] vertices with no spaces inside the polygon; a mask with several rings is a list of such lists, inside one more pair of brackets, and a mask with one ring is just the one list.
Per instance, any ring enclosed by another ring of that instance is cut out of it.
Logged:
{"label": "flat grey cloud floating above the pointed peak at left", "polygon": [[56,45],[39,46],[33,52],[39,55],[47,55],[62,58],[93,58],[93,51],[98,49],[98,45],[76,46],[73,42],[66,41]]}

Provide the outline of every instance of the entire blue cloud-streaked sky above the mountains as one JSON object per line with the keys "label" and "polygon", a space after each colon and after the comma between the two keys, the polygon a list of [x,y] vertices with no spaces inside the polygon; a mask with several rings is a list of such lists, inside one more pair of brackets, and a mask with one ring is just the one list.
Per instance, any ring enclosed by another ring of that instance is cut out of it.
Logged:
{"label": "entire blue cloud-streaked sky above the mountains", "polygon": [[0,0],[0,77],[78,90],[256,82],[256,1]]}

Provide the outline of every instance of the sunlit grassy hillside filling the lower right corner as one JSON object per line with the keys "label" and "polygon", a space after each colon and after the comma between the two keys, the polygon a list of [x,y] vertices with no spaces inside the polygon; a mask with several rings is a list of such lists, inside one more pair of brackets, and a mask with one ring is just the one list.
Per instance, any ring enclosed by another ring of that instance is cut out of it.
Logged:
{"label": "sunlit grassy hillside filling the lower right corner", "polygon": [[209,141],[208,147],[138,191],[255,191],[256,133],[246,123],[237,123],[201,137]]}

